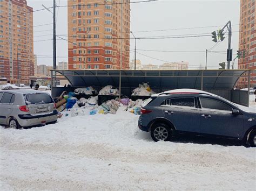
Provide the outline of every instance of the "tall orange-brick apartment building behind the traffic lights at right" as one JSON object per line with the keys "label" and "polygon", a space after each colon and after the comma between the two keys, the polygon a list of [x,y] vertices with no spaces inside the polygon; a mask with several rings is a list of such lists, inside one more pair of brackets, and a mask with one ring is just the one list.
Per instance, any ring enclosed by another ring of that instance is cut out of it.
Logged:
{"label": "tall orange-brick apartment building behind the traffic lights at right", "polygon": [[[240,1],[240,33],[239,50],[245,51],[245,58],[238,61],[238,69],[253,69],[251,87],[256,87],[256,30],[255,30],[255,0]],[[242,75],[239,87],[248,86],[248,74]]]}

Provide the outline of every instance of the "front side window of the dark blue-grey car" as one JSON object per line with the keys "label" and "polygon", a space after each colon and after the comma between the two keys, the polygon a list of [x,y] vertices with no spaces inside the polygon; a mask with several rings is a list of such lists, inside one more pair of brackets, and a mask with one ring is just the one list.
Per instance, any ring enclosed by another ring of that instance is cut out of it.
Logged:
{"label": "front side window of the dark blue-grey car", "polygon": [[216,109],[216,110],[224,110],[224,111],[233,110],[229,105],[223,102],[220,102],[218,100],[213,100],[209,98],[200,97],[200,103],[201,103],[201,107],[206,109]]}

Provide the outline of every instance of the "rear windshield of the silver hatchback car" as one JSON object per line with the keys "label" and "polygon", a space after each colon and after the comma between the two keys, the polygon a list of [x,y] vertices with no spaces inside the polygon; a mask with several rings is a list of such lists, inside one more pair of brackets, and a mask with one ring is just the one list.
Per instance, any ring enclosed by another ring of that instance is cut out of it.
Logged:
{"label": "rear windshield of the silver hatchback car", "polygon": [[53,103],[53,100],[48,94],[25,94],[26,104],[41,104],[41,103]]}

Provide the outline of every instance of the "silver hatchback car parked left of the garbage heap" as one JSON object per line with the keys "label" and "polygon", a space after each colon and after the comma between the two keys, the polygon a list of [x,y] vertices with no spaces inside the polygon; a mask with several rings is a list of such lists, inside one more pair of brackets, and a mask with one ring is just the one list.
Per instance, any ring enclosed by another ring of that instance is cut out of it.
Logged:
{"label": "silver hatchback car parked left of the garbage heap", "polygon": [[37,90],[0,90],[0,124],[10,128],[56,123],[58,112],[52,97]]}

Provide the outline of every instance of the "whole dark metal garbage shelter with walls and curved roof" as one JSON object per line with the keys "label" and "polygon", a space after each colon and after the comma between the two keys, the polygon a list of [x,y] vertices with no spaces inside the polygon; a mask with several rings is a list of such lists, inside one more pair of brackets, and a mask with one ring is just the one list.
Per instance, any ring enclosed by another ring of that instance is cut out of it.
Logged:
{"label": "whole dark metal garbage shelter with walls and curved roof", "polygon": [[[232,102],[249,104],[249,91],[234,90],[239,77],[251,70],[51,70],[53,77],[66,77],[71,87],[52,87],[52,96],[59,96],[64,90],[92,86],[97,90],[111,85],[121,95],[131,97],[132,90],[139,83],[148,82],[156,93],[166,90],[191,88],[208,91]],[[250,87],[250,82],[248,82]]]}

